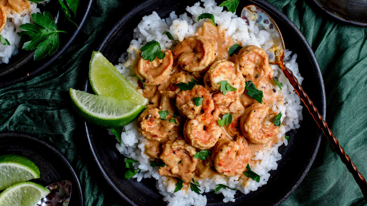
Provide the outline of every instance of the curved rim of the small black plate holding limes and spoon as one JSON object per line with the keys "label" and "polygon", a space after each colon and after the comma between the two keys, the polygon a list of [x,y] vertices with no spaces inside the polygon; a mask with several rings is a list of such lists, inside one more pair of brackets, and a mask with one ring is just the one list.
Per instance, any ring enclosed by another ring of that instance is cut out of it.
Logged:
{"label": "curved rim of the small black plate holding limes and spoon", "polygon": [[[25,138],[25,139],[29,139],[31,141],[36,141],[40,144],[42,144],[43,146],[46,146],[48,148],[50,148],[50,150],[52,150],[53,152],[55,152],[55,154],[62,159],[62,161],[65,163],[65,165],[68,167],[70,173],[72,174],[73,176],[73,179],[76,183],[76,185],[74,186],[73,185],[73,190],[77,190],[78,191],[78,196],[79,196],[79,200],[80,200],[80,204],[81,205],[84,205],[84,200],[83,200],[83,192],[81,190],[81,185],[80,185],[80,181],[79,181],[79,178],[77,177],[73,167],[70,165],[69,161],[64,157],[63,154],[61,154],[60,151],[58,151],[55,147],[53,147],[51,144],[47,143],[46,141],[44,140],[41,140],[37,137],[34,137],[34,136],[31,136],[31,135],[28,135],[28,134],[25,134],[25,133],[20,133],[20,132],[1,132],[0,133],[0,138],[4,138],[4,137],[22,137],[22,138]],[[76,187],[76,188],[75,188]]]}

